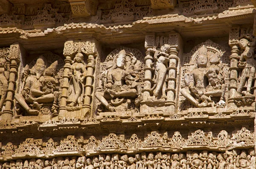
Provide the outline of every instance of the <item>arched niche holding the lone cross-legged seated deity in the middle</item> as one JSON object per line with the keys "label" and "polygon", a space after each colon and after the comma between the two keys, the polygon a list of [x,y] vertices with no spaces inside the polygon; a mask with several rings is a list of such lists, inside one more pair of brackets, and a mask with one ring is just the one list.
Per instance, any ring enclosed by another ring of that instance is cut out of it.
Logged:
{"label": "arched niche holding the lone cross-legged seated deity in the middle", "polygon": [[100,65],[97,88],[100,112],[138,112],[142,99],[144,56],[138,49],[113,50]]}

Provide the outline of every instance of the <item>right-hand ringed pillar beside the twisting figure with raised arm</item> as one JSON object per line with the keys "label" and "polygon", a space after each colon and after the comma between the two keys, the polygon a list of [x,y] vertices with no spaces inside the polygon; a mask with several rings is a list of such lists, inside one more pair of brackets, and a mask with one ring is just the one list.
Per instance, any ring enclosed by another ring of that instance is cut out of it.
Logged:
{"label": "right-hand ringed pillar beside the twisting figure with raised arm", "polygon": [[177,66],[178,66],[178,51],[181,46],[181,37],[179,33],[170,33],[169,34],[169,45],[171,46],[170,54],[169,54],[169,68],[167,69],[167,100],[166,106],[170,106],[168,109],[169,113],[175,111],[175,98],[176,98],[176,83],[177,83]]}

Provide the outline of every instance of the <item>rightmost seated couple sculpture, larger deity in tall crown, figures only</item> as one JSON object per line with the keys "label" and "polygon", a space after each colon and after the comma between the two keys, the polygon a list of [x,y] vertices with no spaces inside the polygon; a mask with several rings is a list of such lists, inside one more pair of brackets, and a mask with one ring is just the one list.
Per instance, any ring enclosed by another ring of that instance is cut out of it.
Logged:
{"label": "rightmost seated couple sculpture, larger deity in tall crown, figures only", "polygon": [[[217,58],[216,58],[217,57]],[[189,89],[181,89],[181,94],[196,107],[223,107],[226,86],[223,84],[223,76],[217,63],[219,55],[214,54],[208,64],[207,48],[202,46],[197,58],[198,68],[185,74],[185,84]],[[207,85],[207,82],[209,85]],[[212,97],[218,97],[218,103],[212,101]]]}

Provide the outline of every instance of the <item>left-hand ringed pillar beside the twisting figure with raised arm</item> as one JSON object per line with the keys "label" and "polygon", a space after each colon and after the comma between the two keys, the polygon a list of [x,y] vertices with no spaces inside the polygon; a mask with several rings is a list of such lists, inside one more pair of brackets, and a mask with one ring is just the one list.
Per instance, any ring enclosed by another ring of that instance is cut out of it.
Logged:
{"label": "left-hand ringed pillar beside the twisting figure with raised arm", "polygon": [[151,51],[152,48],[155,46],[155,35],[154,34],[148,34],[145,36],[145,49],[146,51],[146,57],[145,57],[145,77],[144,77],[144,89],[143,89],[143,100],[147,100],[147,98],[150,96],[150,89],[152,81],[152,72],[154,71],[151,68],[151,64],[153,63],[153,56],[154,53]]}

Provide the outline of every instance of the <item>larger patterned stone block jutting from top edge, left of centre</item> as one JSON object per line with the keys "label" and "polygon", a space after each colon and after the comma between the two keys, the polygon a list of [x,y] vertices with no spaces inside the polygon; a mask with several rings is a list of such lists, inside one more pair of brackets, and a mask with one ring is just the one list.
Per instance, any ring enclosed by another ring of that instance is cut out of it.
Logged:
{"label": "larger patterned stone block jutting from top edge, left of centre", "polygon": [[96,14],[98,0],[69,0],[73,17],[87,17]]}

